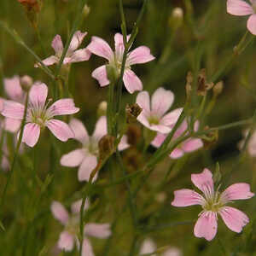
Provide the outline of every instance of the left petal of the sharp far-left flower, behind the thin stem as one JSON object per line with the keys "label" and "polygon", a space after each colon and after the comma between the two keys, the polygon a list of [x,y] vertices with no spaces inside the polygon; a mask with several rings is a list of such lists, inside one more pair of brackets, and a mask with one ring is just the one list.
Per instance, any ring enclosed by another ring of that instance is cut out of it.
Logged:
{"label": "left petal of the sharp far-left flower, behind the thin stem", "polygon": [[23,119],[25,107],[18,102],[4,101],[3,116],[10,119]]}

